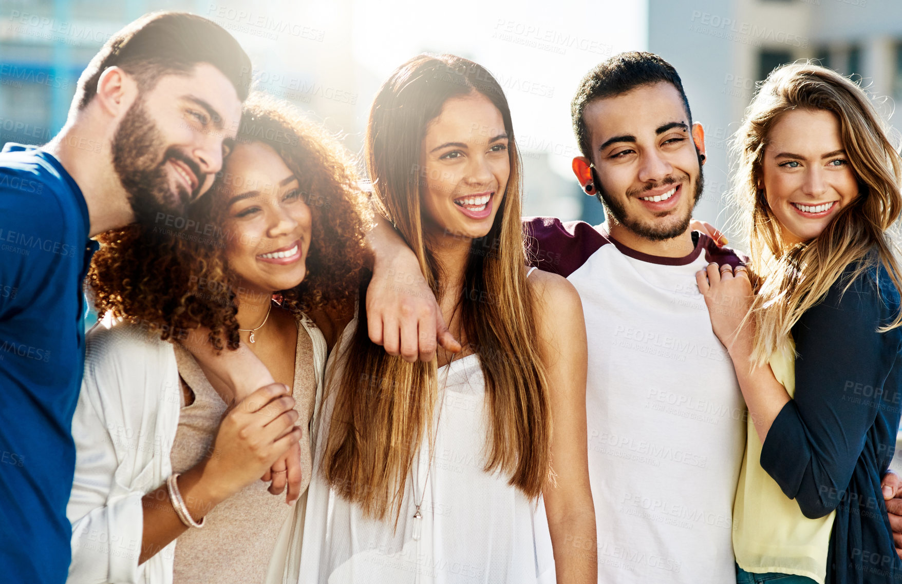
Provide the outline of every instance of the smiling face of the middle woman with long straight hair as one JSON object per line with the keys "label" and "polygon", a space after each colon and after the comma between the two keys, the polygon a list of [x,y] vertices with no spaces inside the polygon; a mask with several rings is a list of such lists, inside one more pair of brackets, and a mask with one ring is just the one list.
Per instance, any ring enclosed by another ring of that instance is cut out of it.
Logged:
{"label": "smiling face of the middle woman with long straight hair", "polygon": [[479,93],[453,97],[429,123],[420,154],[423,218],[432,237],[483,237],[511,175],[502,113]]}

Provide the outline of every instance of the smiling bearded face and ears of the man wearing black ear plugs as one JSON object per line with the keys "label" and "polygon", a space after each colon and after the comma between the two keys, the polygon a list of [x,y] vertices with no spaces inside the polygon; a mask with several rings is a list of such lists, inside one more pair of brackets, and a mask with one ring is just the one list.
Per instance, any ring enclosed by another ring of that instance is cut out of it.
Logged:
{"label": "smiling bearded face and ears of the man wearing black ear plugs", "polygon": [[[603,199],[612,236],[657,255],[686,251],[702,192],[704,132],[690,125],[676,87],[661,82],[596,99],[583,119],[593,160],[577,157],[574,171]],[[672,242],[681,237],[686,241],[674,251]]]}

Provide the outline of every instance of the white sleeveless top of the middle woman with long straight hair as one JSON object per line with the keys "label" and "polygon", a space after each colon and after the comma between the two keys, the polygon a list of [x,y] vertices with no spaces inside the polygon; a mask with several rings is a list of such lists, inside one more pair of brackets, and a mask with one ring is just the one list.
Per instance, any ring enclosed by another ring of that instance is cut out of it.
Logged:
{"label": "white sleeveless top of the middle woman with long straight hair", "polygon": [[[356,321],[345,329],[343,347],[355,326]],[[341,379],[341,369],[340,361],[336,366],[330,358],[328,379]],[[308,488],[301,583],[555,581],[544,502],[530,502],[508,485],[508,477],[483,470],[488,426],[479,356],[467,355],[439,368],[438,389],[442,404],[437,408],[431,470],[424,438],[419,464],[407,481],[397,531],[392,530],[393,514],[383,521],[366,518],[359,506],[338,497],[322,479],[319,462],[333,407],[332,400],[324,404]],[[414,489],[422,501],[420,520],[413,518]]]}

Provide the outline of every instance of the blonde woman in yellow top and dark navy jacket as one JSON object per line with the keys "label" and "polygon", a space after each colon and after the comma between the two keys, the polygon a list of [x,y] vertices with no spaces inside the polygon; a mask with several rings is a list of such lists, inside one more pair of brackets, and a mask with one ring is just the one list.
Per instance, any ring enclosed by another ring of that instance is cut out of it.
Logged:
{"label": "blonde woman in yellow top and dark navy jacket", "polygon": [[749,407],[738,581],[902,581],[880,488],[902,402],[897,151],[861,88],[811,64],[769,75],[737,146],[755,295],[745,269],[698,285]]}

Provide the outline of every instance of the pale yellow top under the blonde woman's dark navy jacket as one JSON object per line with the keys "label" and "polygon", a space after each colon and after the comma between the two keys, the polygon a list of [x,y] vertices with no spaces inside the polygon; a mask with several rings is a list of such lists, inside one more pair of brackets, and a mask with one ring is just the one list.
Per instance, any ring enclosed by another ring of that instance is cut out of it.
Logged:
{"label": "pale yellow top under the blonde woman's dark navy jacket", "polygon": [[[787,388],[796,393],[796,343],[789,339],[787,354],[770,356],[770,369]],[[796,501],[761,468],[761,441],[748,419],[745,457],[733,503],[733,552],[742,570],[753,573],[779,572],[815,579],[824,584],[827,549],[833,529],[833,511],[820,519],[802,515]]]}

